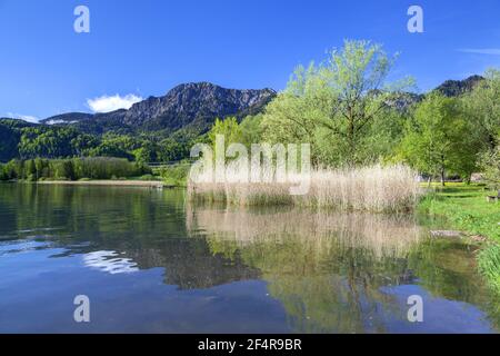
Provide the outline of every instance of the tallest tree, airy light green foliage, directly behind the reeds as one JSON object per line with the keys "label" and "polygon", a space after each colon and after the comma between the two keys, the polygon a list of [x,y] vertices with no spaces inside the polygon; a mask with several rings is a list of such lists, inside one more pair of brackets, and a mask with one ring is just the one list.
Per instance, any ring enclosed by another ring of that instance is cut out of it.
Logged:
{"label": "tallest tree, airy light green foliage, directly behind the reeds", "polygon": [[362,164],[370,126],[387,107],[386,98],[411,83],[387,83],[392,65],[380,44],[346,41],[326,62],[299,67],[266,110],[266,138],[311,144],[314,164]]}

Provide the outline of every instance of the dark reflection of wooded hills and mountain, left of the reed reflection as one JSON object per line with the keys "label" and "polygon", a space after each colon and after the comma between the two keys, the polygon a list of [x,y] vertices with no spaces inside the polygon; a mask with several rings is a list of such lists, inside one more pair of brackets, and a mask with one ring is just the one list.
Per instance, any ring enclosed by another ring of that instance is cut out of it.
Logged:
{"label": "dark reflection of wooded hills and mountain, left of the reed reflection", "polygon": [[186,238],[181,190],[36,185],[0,188],[1,221],[6,222],[0,226],[0,236],[53,241],[51,247],[64,248],[53,257],[86,255],[87,264],[98,264],[101,270],[120,270],[120,261],[139,269],[161,267],[164,283],[181,289],[258,277],[254,268],[214,255],[207,240]]}

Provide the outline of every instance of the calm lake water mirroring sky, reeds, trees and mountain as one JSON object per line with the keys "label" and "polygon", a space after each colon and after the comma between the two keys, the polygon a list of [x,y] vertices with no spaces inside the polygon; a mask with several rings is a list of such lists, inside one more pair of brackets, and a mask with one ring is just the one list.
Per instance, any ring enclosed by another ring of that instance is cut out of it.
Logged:
{"label": "calm lake water mirroring sky, reeds, trees and mountain", "polygon": [[[497,333],[476,247],[428,224],[0,185],[0,333]],[[78,295],[90,323],[73,319]]]}

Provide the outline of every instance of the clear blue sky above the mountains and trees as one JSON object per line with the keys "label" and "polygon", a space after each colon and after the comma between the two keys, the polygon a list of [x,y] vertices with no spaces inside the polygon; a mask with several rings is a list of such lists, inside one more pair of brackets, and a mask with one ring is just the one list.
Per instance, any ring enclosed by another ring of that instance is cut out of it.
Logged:
{"label": "clear blue sky above the mountains and trees", "polygon": [[[80,4],[90,33],[73,30]],[[412,4],[423,33],[407,30]],[[280,90],[343,39],[401,52],[393,78],[427,90],[500,67],[500,1],[0,0],[0,116],[91,112],[89,99],[100,110],[189,81]]]}

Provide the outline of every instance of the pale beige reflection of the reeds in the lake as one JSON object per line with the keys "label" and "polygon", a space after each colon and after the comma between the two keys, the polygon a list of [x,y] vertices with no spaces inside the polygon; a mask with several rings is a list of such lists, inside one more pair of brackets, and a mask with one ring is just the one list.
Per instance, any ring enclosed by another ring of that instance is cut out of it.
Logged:
{"label": "pale beige reflection of the reeds in the lake", "polygon": [[[339,214],[290,209],[257,212],[248,209],[189,209],[188,229],[234,240],[240,246],[299,240],[311,253],[328,246],[363,248],[374,257],[404,257],[419,241],[421,229],[411,218],[371,214]],[[311,256],[312,257],[312,256]]]}

